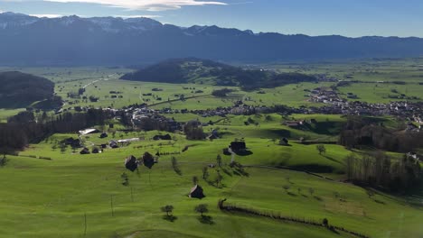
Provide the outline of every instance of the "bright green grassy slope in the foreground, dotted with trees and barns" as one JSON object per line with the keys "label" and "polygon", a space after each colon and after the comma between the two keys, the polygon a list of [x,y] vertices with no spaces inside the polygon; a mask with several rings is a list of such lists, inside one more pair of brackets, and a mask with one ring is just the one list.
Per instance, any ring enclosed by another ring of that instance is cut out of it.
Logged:
{"label": "bright green grassy slope in the foreground, dotted with trees and barns", "polygon": [[[371,237],[418,237],[423,233],[419,220],[421,207],[410,206],[402,197],[378,194],[369,198],[365,189],[303,172],[268,169],[268,166],[321,165],[343,170],[343,157],[349,151],[337,145],[327,146],[321,156],[315,146],[292,143],[278,146],[266,139],[247,140],[252,154],[237,156],[246,166],[248,176],[240,176],[228,166],[220,168],[222,188],[202,179],[202,168],[215,163],[233,137],[213,142],[186,141],[174,135],[175,141],[150,141],[155,132],[142,133],[146,141],[133,142],[120,149],[107,149],[100,154],[73,154],[71,149],[52,150],[52,144],[72,134],[56,134],[46,142],[31,145],[9,157],[0,169],[0,223],[2,237],[82,237],[87,215],[87,237],[332,237],[324,228],[304,224],[278,222],[251,215],[222,213],[217,207],[220,198],[231,203],[277,211],[284,215],[320,221],[324,217],[331,224],[371,235]],[[118,134],[119,135],[119,134]],[[137,133],[124,134],[132,138]],[[105,142],[98,134],[85,139],[86,144]],[[172,168],[170,156],[162,156],[152,169],[140,169],[139,175],[124,169],[123,160],[144,151],[188,151],[175,155],[182,175]],[[44,156],[41,160],[24,156]],[[230,156],[223,156],[223,164]],[[265,167],[261,167],[265,166]],[[120,175],[129,173],[129,186],[121,185]],[[209,169],[212,180],[217,169]],[[193,186],[193,176],[200,178],[206,197],[197,200],[187,197]],[[284,185],[289,185],[287,193]],[[301,190],[298,190],[300,188]],[[314,195],[308,193],[314,188]],[[132,194],[131,194],[132,189]],[[339,193],[343,201],[334,197]],[[113,216],[111,211],[113,202]],[[200,203],[209,205],[213,224],[202,224],[193,211]],[[173,205],[174,223],[165,221],[160,206]],[[18,221],[24,221],[20,223]]]}

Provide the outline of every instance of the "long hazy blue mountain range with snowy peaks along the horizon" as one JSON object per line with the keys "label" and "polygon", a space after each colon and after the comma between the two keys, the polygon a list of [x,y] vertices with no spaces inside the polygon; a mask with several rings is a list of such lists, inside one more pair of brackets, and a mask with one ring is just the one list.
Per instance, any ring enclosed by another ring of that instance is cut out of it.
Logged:
{"label": "long hazy blue mountain range with snowy peaks along the horizon", "polygon": [[[300,31],[300,30],[298,30]],[[198,57],[238,62],[423,55],[423,39],[284,35],[147,18],[0,14],[0,64],[133,65]]]}

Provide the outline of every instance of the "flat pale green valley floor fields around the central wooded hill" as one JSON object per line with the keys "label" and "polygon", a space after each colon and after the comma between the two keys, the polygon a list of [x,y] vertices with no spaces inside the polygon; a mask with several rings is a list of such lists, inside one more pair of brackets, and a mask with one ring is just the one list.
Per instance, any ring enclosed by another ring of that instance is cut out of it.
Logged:
{"label": "flat pale green valley floor fields around the central wooded hill", "polygon": [[[334,61],[324,63],[290,63],[260,65],[265,69],[274,69],[280,72],[302,72],[306,74],[324,74],[328,78],[339,80],[359,80],[367,83],[352,83],[348,87],[338,87],[338,92],[344,98],[347,93],[353,93],[359,100],[370,103],[389,103],[390,101],[404,101],[403,98],[395,98],[404,94],[423,98],[423,59],[367,59]],[[85,68],[0,68],[5,70],[20,70],[38,76],[51,79],[56,83],[56,93],[67,101],[64,108],[75,105],[94,107],[121,108],[127,105],[143,104],[152,105],[153,108],[162,109],[172,107],[174,109],[207,109],[216,106],[230,106],[233,102],[244,100],[249,105],[290,105],[290,106],[321,106],[307,101],[308,93],[315,87],[330,87],[335,83],[323,82],[319,84],[302,83],[287,85],[285,87],[268,88],[258,92],[244,92],[239,88],[232,87],[236,91],[227,98],[211,96],[211,91],[221,87],[188,84],[173,85],[147,82],[131,82],[119,80],[120,76],[131,71],[123,68],[85,67]],[[384,83],[381,83],[383,81]],[[392,84],[393,81],[403,81],[406,85]],[[84,87],[84,96],[95,96],[98,102],[74,99],[69,93],[76,93],[80,87]],[[152,91],[159,88],[161,91]],[[392,89],[398,93],[392,93]],[[110,91],[118,91],[119,94],[110,94]],[[152,96],[143,96],[152,94]],[[185,101],[178,101],[179,96],[185,96]],[[112,98],[116,96],[116,98]],[[419,100],[418,99],[418,100]],[[170,102],[167,102],[170,100]],[[15,114],[15,110],[1,110],[0,120]]]}

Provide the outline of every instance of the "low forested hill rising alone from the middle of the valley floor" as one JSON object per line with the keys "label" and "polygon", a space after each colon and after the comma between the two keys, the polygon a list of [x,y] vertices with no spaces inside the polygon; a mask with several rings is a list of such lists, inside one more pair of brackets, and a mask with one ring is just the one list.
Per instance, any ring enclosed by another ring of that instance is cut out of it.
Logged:
{"label": "low forested hill rising alone from the middle of the valley floor", "polygon": [[278,87],[298,82],[315,82],[304,74],[282,73],[260,69],[240,69],[209,59],[168,59],[128,73],[121,79],[161,83],[196,83],[239,86],[244,89]]}

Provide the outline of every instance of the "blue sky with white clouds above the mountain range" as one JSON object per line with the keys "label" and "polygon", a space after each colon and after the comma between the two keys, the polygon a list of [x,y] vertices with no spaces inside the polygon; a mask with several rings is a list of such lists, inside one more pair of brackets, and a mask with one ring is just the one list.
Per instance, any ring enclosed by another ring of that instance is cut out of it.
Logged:
{"label": "blue sky with white clouds above the mountain range", "polygon": [[0,0],[0,12],[150,16],[254,32],[423,37],[423,0]]}

